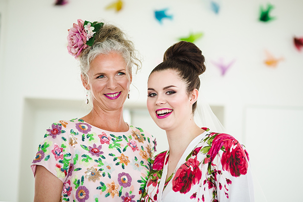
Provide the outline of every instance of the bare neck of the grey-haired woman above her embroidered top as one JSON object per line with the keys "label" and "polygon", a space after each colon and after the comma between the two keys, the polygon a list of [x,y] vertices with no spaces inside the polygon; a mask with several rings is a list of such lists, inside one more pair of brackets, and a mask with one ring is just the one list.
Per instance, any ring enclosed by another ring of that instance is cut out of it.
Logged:
{"label": "bare neck of the grey-haired woman above her embroidered top", "polygon": [[85,122],[97,128],[111,132],[126,132],[128,124],[123,119],[123,108],[116,111],[96,110],[93,108],[82,118]]}

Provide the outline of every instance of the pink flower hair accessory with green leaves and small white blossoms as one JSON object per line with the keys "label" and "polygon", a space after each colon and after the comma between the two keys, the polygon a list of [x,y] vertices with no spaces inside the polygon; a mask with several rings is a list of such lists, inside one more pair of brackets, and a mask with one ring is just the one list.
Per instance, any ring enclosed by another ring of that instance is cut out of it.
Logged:
{"label": "pink flower hair accessory with green leaves and small white blossoms", "polygon": [[67,51],[76,59],[88,46],[92,46],[95,40],[95,33],[98,32],[103,22],[83,22],[78,19],[78,24],[73,23],[73,27],[68,29]]}

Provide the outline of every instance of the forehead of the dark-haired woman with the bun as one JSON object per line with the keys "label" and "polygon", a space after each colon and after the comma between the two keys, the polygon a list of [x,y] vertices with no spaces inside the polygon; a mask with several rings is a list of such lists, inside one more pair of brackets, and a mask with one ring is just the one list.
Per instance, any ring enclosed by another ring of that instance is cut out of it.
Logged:
{"label": "forehead of the dark-haired woman with the bun", "polygon": [[164,88],[167,86],[183,87],[185,83],[182,81],[178,73],[171,69],[163,71],[155,71],[151,73],[148,80],[148,87],[150,88]]}

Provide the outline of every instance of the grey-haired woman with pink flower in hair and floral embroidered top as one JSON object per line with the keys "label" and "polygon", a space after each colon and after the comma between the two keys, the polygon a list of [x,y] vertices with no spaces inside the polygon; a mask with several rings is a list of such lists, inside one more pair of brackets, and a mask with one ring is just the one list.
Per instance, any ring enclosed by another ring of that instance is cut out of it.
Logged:
{"label": "grey-haired woman with pink flower in hair and floral embroidered top", "polygon": [[[92,110],[46,130],[31,168],[36,202],[101,202],[140,199],[154,140],[123,119],[133,44],[116,26],[78,20],[69,29],[68,52],[80,60]],[[88,103],[88,99],[87,99]]]}

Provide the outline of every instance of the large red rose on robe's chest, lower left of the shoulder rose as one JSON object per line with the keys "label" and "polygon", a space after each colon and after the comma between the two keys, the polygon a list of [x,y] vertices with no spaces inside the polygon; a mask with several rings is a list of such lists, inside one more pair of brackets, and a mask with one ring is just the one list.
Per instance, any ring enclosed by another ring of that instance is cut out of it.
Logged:
{"label": "large red rose on robe's chest, lower left of the shoulder rose", "polygon": [[188,159],[175,173],[173,178],[173,191],[187,193],[192,185],[197,184],[202,177],[199,161],[195,158]]}

